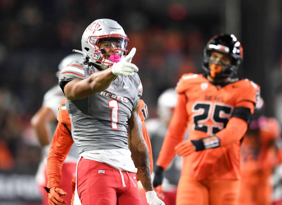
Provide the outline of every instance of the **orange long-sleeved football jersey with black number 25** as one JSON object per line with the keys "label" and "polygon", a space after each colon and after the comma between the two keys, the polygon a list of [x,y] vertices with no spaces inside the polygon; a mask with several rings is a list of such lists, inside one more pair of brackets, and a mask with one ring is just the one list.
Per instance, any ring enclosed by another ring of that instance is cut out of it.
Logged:
{"label": "orange long-sleeved football jersey with black number 25", "polygon": [[[238,179],[240,139],[247,130],[247,123],[241,118],[231,118],[231,115],[236,107],[249,108],[253,113],[260,93],[259,86],[248,79],[219,86],[202,74],[189,73],[181,77],[176,92],[179,93],[178,103],[157,165],[163,168],[168,166],[175,155],[174,147],[184,139],[188,126],[189,140],[215,135],[220,138],[221,145],[226,146],[184,157],[181,174],[196,180]],[[229,125],[232,133],[224,129]]]}

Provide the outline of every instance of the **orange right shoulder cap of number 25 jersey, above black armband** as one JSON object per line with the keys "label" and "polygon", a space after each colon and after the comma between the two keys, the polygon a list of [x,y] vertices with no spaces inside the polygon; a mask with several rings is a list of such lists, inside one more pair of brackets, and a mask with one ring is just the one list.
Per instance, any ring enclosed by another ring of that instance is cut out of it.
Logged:
{"label": "orange right shoulder cap of number 25 jersey, above black armband", "polygon": [[239,87],[236,98],[237,102],[251,101],[254,105],[258,103],[260,97],[260,87],[258,84],[246,78],[237,81],[234,85]]}

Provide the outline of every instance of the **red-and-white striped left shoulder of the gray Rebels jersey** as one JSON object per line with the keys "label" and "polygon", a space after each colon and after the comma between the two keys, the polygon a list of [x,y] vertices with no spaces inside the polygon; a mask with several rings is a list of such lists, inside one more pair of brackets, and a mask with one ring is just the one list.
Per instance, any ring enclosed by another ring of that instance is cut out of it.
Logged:
{"label": "red-and-white striped left shoulder of the gray Rebels jersey", "polygon": [[62,69],[59,75],[59,83],[61,81],[71,81],[76,78],[84,79],[84,70],[86,68],[86,65],[84,65],[83,63],[78,61],[72,61],[64,69]]}

